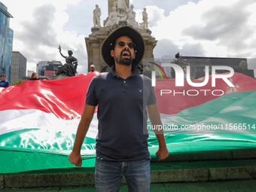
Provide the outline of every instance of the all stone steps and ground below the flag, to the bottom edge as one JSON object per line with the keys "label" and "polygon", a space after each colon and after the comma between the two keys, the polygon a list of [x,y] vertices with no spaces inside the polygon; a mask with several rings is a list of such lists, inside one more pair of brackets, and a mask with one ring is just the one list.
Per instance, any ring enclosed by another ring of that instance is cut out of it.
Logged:
{"label": "all stone steps and ground below the flag, to the bottom edge", "polygon": [[[127,191],[125,181],[120,191]],[[94,168],[0,175],[2,191],[96,191]],[[256,151],[172,154],[151,160],[151,191],[256,191]]]}

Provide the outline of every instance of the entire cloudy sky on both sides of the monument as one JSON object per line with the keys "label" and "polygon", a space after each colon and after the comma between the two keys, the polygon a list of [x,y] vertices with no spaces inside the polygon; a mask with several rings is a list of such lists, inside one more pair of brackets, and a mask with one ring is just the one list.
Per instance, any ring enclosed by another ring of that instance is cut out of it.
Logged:
{"label": "entire cloudy sky on both sides of the monument", "polygon": [[[93,9],[108,17],[107,0],[0,0],[14,18],[14,51],[27,58],[29,70],[38,61],[60,60],[57,47],[73,50],[78,72],[87,73],[84,38],[91,34]],[[147,8],[149,29],[157,39],[154,58],[219,56],[256,58],[255,0],[130,0],[137,22]]]}

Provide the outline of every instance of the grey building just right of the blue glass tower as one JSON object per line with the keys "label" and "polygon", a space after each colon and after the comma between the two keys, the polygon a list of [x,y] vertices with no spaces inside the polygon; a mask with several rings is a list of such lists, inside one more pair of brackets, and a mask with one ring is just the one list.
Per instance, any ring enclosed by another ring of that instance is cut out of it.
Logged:
{"label": "grey building just right of the blue glass tower", "polygon": [[26,80],[26,57],[19,51],[13,51],[11,58],[11,84],[19,79]]}

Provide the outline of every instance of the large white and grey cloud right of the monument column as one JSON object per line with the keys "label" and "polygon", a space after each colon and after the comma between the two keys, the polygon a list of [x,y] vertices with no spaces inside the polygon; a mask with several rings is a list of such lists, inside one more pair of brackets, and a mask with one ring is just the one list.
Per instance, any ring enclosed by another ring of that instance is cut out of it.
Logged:
{"label": "large white and grey cloud right of the monument column", "polygon": [[[254,10],[253,1],[188,2],[167,17],[162,13],[157,26],[149,26],[157,40],[171,40],[181,53],[186,44],[200,44],[205,50],[201,56],[255,57],[256,53],[250,51],[254,48],[251,42],[256,41]],[[158,49],[155,47],[154,52]]]}

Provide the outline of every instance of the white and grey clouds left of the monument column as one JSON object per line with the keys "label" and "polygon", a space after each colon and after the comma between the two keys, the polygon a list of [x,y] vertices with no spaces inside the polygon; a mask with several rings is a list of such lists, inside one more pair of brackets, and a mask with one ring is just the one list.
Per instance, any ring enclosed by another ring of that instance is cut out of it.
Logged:
{"label": "white and grey clouds left of the monument column", "polygon": [[[75,1],[51,1],[51,0],[23,0],[2,1],[8,7],[8,11],[14,16],[10,20],[10,27],[14,30],[13,50],[18,50],[27,58],[27,69],[34,70],[36,63],[41,60],[60,60],[58,45],[66,50],[73,50],[74,56],[80,60],[81,72],[86,72],[87,57],[84,37],[75,32],[64,31],[63,26],[69,21],[66,8]],[[79,49],[79,51],[78,51]],[[81,53],[83,50],[83,53]],[[84,66],[84,67],[83,67]]]}

